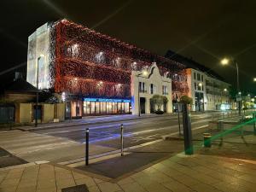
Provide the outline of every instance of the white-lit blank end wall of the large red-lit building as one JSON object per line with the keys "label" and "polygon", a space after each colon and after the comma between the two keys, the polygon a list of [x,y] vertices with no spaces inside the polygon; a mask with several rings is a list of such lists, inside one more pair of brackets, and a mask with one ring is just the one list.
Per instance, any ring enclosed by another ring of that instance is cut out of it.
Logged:
{"label": "white-lit blank end wall of the large red-lit building", "polygon": [[48,23],[40,26],[28,38],[27,74],[26,81],[38,88],[49,88],[49,38],[50,26]]}

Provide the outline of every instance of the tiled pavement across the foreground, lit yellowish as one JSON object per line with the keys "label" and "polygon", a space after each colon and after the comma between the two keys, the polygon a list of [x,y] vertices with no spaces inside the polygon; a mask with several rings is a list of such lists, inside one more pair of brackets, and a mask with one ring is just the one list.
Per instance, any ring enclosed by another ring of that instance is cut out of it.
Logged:
{"label": "tiled pavement across the foreground, lit yellowish", "polygon": [[1,192],[59,192],[82,183],[90,192],[253,192],[256,163],[212,155],[177,154],[116,179],[53,164],[0,170]]}

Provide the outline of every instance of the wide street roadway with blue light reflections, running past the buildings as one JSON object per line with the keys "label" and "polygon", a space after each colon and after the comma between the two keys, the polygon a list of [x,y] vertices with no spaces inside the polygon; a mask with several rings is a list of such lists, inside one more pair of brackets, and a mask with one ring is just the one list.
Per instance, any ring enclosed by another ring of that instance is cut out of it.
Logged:
{"label": "wide street roadway with blue light reflections, running past the buildings", "polygon": [[[207,125],[211,113],[191,115],[192,128]],[[126,119],[97,125],[68,126],[41,131],[2,131],[0,146],[28,162],[61,162],[84,157],[84,133],[90,128],[90,155],[119,149],[120,124],[125,127],[125,147],[148,143],[178,131],[177,115]]]}

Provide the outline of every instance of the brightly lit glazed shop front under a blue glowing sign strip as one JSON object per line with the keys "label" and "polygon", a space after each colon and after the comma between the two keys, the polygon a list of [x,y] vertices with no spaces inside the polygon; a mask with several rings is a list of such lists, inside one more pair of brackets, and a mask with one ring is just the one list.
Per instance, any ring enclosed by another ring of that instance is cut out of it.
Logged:
{"label": "brightly lit glazed shop front under a blue glowing sign strip", "polygon": [[131,113],[130,99],[84,98],[85,115]]}

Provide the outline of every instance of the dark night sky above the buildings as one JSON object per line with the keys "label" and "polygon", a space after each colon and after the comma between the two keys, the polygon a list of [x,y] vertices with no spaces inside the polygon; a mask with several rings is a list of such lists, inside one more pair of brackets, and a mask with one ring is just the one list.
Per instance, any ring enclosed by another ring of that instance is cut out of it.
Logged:
{"label": "dark night sky above the buildings", "polygon": [[255,0],[2,0],[0,9],[0,71],[26,61],[38,26],[66,17],[160,55],[178,51],[236,85],[236,69],[219,64],[233,56],[241,89],[256,93]]}

